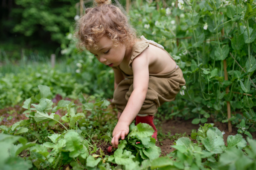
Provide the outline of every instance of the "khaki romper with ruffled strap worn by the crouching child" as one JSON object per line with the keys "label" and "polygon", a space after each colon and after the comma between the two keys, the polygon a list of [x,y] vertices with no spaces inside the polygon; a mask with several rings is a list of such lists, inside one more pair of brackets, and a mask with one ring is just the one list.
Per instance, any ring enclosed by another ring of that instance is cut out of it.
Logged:
{"label": "khaki romper with ruffled strap worn by the crouching child", "polygon": [[[149,43],[146,41],[137,41],[134,43],[134,46],[131,49],[131,59],[128,64],[131,70],[131,63],[134,58],[136,58],[148,46]],[[170,57],[172,58],[171,55]],[[116,87],[112,101],[114,104],[116,104],[117,110],[119,112],[123,112],[128,99],[133,92],[133,75],[125,74],[125,72],[123,72],[119,66],[113,67],[113,69],[119,69],[126,78],[125,80],[122,80]],[[175,96],[180,91],[180,88],[185,84],[186,82],[179,66],[167,74],[149,74],[148,91],[138,116],[143,117],[147,115],[154,115],[157,112],[157,107],[160,107],[164,102],[175,100]]]}

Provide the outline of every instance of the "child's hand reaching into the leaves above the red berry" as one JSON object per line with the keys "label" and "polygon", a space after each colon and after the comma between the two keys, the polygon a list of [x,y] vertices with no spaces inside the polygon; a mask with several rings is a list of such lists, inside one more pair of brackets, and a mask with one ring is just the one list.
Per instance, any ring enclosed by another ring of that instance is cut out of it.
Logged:
{"label": "child's hand reaching into the leaves above the red berry", "polygon": [[116,127],[113,130],[113,138],[112,138],[112,146],[114,148],[117,148],[118,146],[118,140],[121,138],[122,140],[125,139],[125,136],[129,133],[129,126],[125,123],[118,122],[116,124]]}

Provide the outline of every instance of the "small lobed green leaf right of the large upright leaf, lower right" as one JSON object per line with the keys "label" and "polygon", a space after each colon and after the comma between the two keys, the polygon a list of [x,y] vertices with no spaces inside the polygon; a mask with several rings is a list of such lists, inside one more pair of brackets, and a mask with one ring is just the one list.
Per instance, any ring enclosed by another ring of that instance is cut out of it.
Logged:
{"label": "small lobed green leaf right of the large upright leaf, lower right", "polygon": [[227,147],[238,147],[238,149],[243,149],[246,147],[247,142],[243,139],[243,136],[236,134],[235,136],[229,135],[227,137]]}

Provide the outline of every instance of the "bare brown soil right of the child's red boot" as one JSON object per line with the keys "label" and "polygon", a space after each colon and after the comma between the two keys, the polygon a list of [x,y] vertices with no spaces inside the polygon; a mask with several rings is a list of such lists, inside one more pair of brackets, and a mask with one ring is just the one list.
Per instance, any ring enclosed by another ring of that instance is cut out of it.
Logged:
{"label": "bare brown soil right of the child's red boot", "polygon": [[[199,124],[192,124],[192,119],[189,120],[182,120],[178,119],[177,121],[175,120],[169,120],[163,122],[163,124],[160,127],[157,127],[157,129],[161,129],[164,134],[167,135],[169,131],[171,131],[171,135],[174,135],[175,133],[185,133],[188,135],[188,137],[191,139],[191,130],[195,129],[198,130],[200,127]],[[218,129],[222,132],[224,131],[225,134],[223,135],[224,142],[227,145],[227,137],[229,135],[236,135],[237,134],[237,128],[232,127],[232,133],[228,132],[228,127],[227,123],[221,123],[221,122],[214,122],[214,120],[208,120],[207,123],[214,123],[214,127],[218,127]],[[256,139],[256,132],[250,133],[253,136],[253,139]],[[175,149],[171,147],[171,145],[174,145],[173,142],[175,142],[177,139],[170,140],[169,138],[163,139],[163,141],[157,141],[156,145],[161,148],[162,155],[166,156],[166,154],[174,151]],[[192,140],[194,143],[196,143],[195,140]]]}

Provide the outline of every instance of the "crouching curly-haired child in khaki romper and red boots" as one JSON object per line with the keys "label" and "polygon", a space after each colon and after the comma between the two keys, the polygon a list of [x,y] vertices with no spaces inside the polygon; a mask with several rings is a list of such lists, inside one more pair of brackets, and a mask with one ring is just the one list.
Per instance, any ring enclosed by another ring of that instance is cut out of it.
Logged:
{"label": "crouching curly-haired child in khaki romper and red boots", "polygon": [[153,127],[152,137],[157,139],[154,114],[185,85],[182,71],[163,46],[143,36],[138,39],[125,14],[110,0],[95,2],[97,6],[86,9],[79,20],[78,45],[114,70],[113,103],[119,113],[111,143],[117,148],[134,119],[135,124]]}

